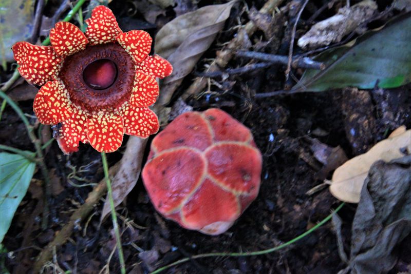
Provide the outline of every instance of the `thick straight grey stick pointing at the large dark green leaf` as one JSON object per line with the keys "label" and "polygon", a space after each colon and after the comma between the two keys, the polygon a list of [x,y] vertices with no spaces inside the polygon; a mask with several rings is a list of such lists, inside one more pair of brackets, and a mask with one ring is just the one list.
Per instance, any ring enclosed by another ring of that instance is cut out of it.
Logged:
{"label": "thick straight grey stick pointing at the large dark green leaf", "polygon": [[[275,55],[275,54],[268,54],[263,52],[255,52],[255,51],[237,51],[235,53],[237,56],[240,57],[248,57],[253,58],[256,60],[261,60],[265,62],[270,62],[274,64],[288,64],[288,57],[284,55]],[[293,68],[311,68],[311,69],[325,69],[325,64],[321,62],[313,61],[308,57],[300,57],[294,56],[293,61],[291,63]]]}

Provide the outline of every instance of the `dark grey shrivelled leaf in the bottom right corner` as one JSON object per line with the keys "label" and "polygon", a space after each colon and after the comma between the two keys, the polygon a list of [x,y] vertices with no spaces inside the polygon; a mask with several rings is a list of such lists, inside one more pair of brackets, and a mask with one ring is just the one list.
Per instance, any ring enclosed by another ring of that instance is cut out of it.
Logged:
{"label": "dark grey shrivelled leaf in the bottom right corner", "polygon": [[[371,166],[352,222],[348,268],[352,273],[387,273],[397,261],[395,247],[411,232],[411,155]],[[337,231],[341,223],[333,219]],[[347,262],[341,232],[341,258]]]}

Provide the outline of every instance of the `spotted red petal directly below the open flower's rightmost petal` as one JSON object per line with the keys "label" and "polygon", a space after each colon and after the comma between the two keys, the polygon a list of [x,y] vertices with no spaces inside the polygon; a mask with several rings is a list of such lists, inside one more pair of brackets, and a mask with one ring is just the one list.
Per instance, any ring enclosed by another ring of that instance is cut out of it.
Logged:
{"label": "spotted red petal directly below the open flower's rightmost petal", "polygon": [[137,71],[130,105],[133,107],[151,106],[156,103],[158,92],[157,81],[152,76]]}

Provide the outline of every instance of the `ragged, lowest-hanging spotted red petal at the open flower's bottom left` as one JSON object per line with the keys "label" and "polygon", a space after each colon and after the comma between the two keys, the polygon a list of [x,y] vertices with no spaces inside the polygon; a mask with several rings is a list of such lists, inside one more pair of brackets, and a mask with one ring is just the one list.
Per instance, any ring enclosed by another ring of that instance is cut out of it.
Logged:
{"label": "ragged, lowest-hanging spotted red petal at the open flower's bottom left", "polygon": [[[79,109],[73,107],[73,114],[61,123],[58,131],[57,142],[60,149],[69,154],[79,150],[79,142],[87,143],[87,116]],[[59,127],[59,125],[57,125]]]}

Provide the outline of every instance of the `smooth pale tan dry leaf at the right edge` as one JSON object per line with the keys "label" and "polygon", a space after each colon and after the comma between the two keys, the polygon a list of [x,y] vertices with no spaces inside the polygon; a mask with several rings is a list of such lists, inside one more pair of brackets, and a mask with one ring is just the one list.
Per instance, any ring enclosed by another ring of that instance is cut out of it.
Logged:
{"label": "smooth pale tan dry leaf at the right edge", "polygon": [[[394,132],[396,132],[395,130]],[[360,192],[371,165],[383,160],[391,160],[404,156],[404,149],[411,152],[411,129],[377,143],[368,152],[358,155],[337,168],[332,175],[330,192],[335,198],[358,203]]]}

